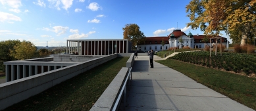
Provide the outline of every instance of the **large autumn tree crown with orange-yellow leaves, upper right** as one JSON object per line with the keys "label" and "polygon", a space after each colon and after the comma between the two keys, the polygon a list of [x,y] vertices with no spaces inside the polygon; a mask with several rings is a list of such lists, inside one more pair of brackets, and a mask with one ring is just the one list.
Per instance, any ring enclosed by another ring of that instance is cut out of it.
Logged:
{"label": "large autumn tree crown with orange-yellow leaves, upper right", "polygon": [[[245,45],[255,33],[256,14],[255,0],[192,0],[186,6],[186,12],[192,22],[188,26],[192,29],[200,28],[205,33],[211,33],[214,30],[216,35],[220,31],[228,30],[230,38],[238,28],[242,32],[241,45]],[[215,16],[215,17],[214,17]],[[232,38],[233,39],[233,38]]]}

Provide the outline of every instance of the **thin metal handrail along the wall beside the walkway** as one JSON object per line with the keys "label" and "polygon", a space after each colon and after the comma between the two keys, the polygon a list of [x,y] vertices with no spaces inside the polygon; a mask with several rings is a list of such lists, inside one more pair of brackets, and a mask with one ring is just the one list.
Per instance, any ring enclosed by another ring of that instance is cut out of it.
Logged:
{"label": "thin metal handrail along the wall beside the walkway", "polygon": [[[114,105],[114,107],[112,109],[113,111],[118,110],[116,108],[117,108],[117,106],[118,106],[118,104],[119,104],[119,102],[121,100],[122,93],[124,93],[124,106],[126,104],[126,83],[127,83],[129,78],[132,79],[132,67],[129,68],[129,73],[128,73],[125,81],[124,81],[124,84],[122,85],[122,89],[121,89],[120,93],[118,94],[118,98],[116,99],[115,105]],[[130,87],[130,81],[129,81],[129,87]]]}

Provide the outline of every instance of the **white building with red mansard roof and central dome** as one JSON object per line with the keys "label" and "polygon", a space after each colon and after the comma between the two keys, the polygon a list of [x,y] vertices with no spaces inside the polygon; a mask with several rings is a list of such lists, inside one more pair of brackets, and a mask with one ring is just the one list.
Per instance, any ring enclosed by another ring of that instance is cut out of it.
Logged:
{"label": "white building with red mansard roof and central dome", "polygon": [[[209,41],[207,43],[203,42],[203,38],[208,37]],[[218,36],[220,37],[220,36]],[[210,39],[213,38],[213,39]],[[178,47],[181,49],[182,47],[190,47],[192,49],[203,49],[205,45],[210,45],[211,43],[215,43],[215,37],[207,36],[207,35],[193,35],[191,32],[188,35],[181,30],[174,30],[167,36],[161,37],[146,37],[145,43],[140,43],[137,45],[137,49],[140,51],[149,51],[153,49],[154,51],[162,51],[167,50],[170,47]],[[182,39],[182,42],[180,42]],[[222,45],[228,47],[227,39],[225,37],[221,37]],[[165,45],[162,46],[162,41],[165,41]],[[220,43],[220,39],[217,39],[218,44]]]}

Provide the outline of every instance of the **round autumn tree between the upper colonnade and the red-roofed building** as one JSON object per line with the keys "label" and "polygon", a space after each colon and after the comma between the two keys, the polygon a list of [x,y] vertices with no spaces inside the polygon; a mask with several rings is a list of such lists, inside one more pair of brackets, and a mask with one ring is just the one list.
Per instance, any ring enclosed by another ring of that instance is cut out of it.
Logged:
{"label": "round autumn tree between the upper colonnade and the red-roofed building", "polygon": [[135,48],[137,43],[145,43],[145,35],[140,31],[140,27],[137,24],[126,24],[122,30],[124,30],[124,39],[132,41],[132,49]]}

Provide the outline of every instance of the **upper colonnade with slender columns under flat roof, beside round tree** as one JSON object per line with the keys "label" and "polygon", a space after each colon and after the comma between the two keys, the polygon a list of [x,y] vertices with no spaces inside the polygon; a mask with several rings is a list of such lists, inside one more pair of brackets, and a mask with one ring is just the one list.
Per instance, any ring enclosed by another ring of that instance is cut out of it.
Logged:
{"label": "upper colonnade with slender columns under flat roof, beside round tree", "polygon": [[68,39],[66,53],[78,55],[112,55],[128,53],[128,39]]}

